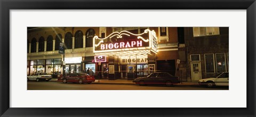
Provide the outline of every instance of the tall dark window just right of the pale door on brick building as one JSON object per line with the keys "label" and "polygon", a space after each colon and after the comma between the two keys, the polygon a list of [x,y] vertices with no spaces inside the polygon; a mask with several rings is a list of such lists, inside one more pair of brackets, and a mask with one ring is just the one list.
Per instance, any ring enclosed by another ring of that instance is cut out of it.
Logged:
{"label": "tall dark window just right of the pale door on brick building", "polygon": [[204,57],[205,57],[205,72],[206,73],[215,73],[213,53],[205,54]]}

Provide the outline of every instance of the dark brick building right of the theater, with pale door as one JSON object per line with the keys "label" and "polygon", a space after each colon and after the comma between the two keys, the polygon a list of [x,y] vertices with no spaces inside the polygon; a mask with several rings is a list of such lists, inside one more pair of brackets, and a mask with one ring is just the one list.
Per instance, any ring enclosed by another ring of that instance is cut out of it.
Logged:
{"label": "dark brick building right of the theater, with pale door", "polygon": [[229,28],[184,28],[184,43],[180,43],[180,70],[188,81],[213,77],[228,72]]}

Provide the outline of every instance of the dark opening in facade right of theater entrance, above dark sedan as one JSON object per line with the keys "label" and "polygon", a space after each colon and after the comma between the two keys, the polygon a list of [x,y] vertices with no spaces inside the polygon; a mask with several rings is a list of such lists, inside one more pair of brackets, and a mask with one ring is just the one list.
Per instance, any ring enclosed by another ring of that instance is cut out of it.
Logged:
{"label": "dark opening in facade right of theater entrance, above dark sedan", "polygon": [[157,71],[175,75],[175,60],[157,60]]}

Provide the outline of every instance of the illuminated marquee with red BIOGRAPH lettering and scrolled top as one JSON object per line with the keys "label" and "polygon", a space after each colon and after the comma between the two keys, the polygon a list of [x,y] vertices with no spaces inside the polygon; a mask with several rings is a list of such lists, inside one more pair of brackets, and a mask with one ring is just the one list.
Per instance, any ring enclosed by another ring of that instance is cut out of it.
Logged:
{"label": "illuminated marquee with red BIOGRAPH lettering and scrolled top", "polygon": [[129,31],[113,32],[106,38],[93,38],[93,52],[119,52],[129,50],[157,51],[157,38],[154,30],[146,29],[141,34]]}

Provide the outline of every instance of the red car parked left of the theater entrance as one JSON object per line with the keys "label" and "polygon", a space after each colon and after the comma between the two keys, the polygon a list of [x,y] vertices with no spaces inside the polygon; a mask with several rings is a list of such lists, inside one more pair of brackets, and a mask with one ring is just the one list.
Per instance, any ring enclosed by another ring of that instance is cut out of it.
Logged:
{"label": "red car parked left of the theater entrance", "polygon": [[87,83],[91,84],[92,82],[95,81],[94,76],[90,76],[89,74],[86,73],[73,73],[73,74],[66,74],[66,76],[63,76],[61,78],[62,83]]}

